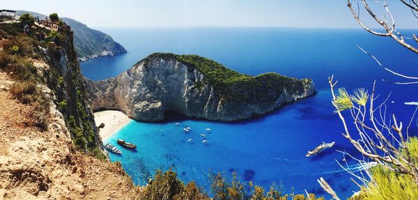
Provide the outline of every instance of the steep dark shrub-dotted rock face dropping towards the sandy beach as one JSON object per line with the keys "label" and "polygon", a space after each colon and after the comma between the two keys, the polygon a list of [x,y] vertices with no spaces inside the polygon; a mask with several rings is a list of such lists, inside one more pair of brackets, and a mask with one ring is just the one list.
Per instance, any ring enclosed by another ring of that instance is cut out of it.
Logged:
{"label": "steep dark shrub-dotted rock face dropping towards the sandy beach", "polygon": [[72,140],[78,148],[100,153],[102,141],[95,127],[83,75],[72,43],[73,32],[60,31],[60,46],[47,45],[44,61],[49,68],[42,72],[45,83],[56,95],[55,103],[65,117]]}

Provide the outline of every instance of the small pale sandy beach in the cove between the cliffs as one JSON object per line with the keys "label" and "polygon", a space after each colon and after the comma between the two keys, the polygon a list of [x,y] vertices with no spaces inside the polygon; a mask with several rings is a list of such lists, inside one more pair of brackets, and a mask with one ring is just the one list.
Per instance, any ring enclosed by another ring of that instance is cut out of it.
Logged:
{"label": "small pale sandy beach in the cove between the cliffs", "polygon": [[104,140],[133,120],[123,111],[105,110],[94,112],[94,121],[96,126],[104,123],[104,128],[100,128],[100,137]]}

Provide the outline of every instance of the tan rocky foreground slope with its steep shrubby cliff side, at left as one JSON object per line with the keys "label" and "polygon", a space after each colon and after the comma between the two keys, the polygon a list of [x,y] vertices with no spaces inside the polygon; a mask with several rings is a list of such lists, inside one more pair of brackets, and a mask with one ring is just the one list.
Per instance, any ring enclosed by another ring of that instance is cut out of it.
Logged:
{"label": "tan rocky foreground slope with its steep shrubby cliff side, at left", "polygon": [[0,24],[0,199],[132,199],[102,153],[72,31],[55,43],[39,31],[49,30]]}

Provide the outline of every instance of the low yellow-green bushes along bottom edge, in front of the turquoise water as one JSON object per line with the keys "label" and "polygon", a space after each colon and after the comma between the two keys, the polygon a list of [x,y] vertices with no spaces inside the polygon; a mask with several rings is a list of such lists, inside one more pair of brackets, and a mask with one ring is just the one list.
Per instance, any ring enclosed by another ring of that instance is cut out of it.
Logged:
{"label": "low yellow-green bushes along bottom edge, in front of the turquoise water", "polygon": [[[275,185],[270,187],[269,192],[265,194],[263,187],[249,183],[241,183],[236,174],[228,180],[223,174],[210,175],[211,194],[214,200],[323,200],[323,197],[316,198],[314,194],[306,197],[303,194],[283,194],[277,190]],[[206,200],[209,195],[194,182],[187,183],[178,180],[176,172],[162,172],[157,170],[155,177],[139,193],[137,199],[144,200]]]}

